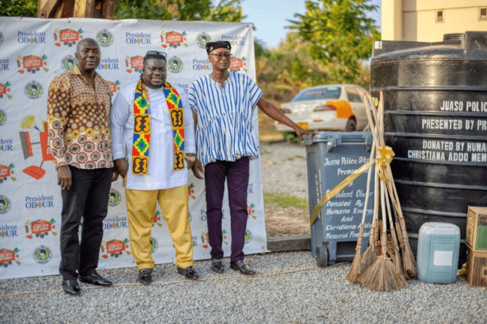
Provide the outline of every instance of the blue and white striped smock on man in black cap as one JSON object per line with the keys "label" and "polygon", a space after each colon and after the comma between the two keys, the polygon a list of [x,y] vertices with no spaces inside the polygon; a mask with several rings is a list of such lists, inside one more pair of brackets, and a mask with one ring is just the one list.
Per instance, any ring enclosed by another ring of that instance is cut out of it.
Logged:
{"label": "blue and white striped smock on man in black cap", "polygon": [[190,107],[198,115],[197,156],[202,165],[237,161],[242,156],[257,158],[253,135],[253,112],[262,90],[247,75],[229,71],[222,89],[210,75],[190,88]]}

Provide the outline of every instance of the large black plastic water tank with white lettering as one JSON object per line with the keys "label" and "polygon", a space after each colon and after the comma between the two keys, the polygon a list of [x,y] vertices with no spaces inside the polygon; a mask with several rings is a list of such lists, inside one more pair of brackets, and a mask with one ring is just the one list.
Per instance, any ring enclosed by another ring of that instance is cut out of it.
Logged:
{"label": "large black plastic water tank with white lettering", "polygon": [[384,91],[384,137],[416,252],[427,221],[460,227],[467,206],[487,206],[487,32],[439,43],[375,41],[371,93]]}

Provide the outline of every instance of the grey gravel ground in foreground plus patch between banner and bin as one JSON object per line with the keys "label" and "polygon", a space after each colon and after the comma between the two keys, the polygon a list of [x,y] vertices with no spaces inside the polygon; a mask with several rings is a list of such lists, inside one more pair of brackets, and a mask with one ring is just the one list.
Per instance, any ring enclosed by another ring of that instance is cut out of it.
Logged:
{"label": "grey gravel ground in foreground plus patch between banner and bin", "polygon": [[[264,191],[307,198],[304,147],[261,150]],[[349,263],[316,268],[309,251],[246,260],[260,275],[239,276],[228,258],[223,274],[197,261],[199,281],[156,265],[149,286],[136,283],[134,267],[101,270],[115,285],[80,283],[80,297],[62,293],[60,276],[0,280],[0,323],[486,323],[487,290],[463,277],[452,285],[414,279],[407,289],[377,293],[346,281]]]}

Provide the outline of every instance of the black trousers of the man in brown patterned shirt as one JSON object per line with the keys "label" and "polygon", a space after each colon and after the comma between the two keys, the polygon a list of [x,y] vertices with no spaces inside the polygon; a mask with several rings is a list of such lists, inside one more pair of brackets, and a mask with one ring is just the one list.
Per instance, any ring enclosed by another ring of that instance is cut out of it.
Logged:
{"label": "black trousers of the man in brown patterned shirt", "polygon": [[[64,279],[76,279],[96,272],[103,239],[103,220],[108,212],[111,168],[71,170],[71,189],[61,191],[61,264]],[[78,237],[81,216],[81,241]],[[78,272],[78,273],[76,273]]]}

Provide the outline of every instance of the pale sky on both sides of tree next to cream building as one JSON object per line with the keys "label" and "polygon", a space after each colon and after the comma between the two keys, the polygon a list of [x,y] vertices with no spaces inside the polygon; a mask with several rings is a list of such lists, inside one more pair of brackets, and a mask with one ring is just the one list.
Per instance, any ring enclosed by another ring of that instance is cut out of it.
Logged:
{"label": "pale sky on both sides of tree next to cream building", "polygon": [[[304,14],[306,6],[304,0],[243,0],[242,13],[247,15],[242,22],[253,22],[255,25],[254,37],[264,41],[266,47],[277,48],[285,35],[290,32],[284,29],[295,20],[294,14]],[[370,3],[379,6],[379,9],[370,17],[381,26],[381,0],[372,0]],[[379,28],[380,29],[380,28]]]}

